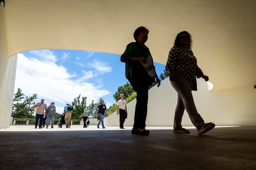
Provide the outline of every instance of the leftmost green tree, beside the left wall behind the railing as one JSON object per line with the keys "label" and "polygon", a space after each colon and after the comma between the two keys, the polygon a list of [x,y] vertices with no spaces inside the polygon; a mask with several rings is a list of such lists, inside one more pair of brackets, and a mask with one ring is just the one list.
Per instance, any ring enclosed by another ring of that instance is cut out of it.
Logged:
{"label": "leftmost green tree, beside the left wall behind the railing", "polygon": [[18,88],[16,94],[14,94],[12,103],[12,117],[20,119],[32,119],[34,113],[35,99],[37,99],[37,94],[28,97],[22,93],[22,90]]}

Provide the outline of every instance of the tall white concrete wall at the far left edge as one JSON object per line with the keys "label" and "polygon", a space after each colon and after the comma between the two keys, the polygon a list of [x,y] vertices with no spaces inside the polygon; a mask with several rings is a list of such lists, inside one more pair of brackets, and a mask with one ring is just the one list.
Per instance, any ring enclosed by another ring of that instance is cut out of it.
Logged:
{"label": "tall white concrete wall at the far left edge", "polygon": [[0,129],[9,127],[16,74],[17,55],[8,57],[4,21],[4,8],[0,8]]}

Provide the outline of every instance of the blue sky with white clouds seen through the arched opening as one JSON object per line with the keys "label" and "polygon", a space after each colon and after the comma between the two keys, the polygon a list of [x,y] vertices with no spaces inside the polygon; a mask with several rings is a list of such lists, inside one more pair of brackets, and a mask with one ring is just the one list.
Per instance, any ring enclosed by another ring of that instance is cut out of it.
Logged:
{"label": "blue sky with white clouds seen through the arched opening", "polygon": [[[71,104],[79,94],[87,97],[87,106],[102,97],[108,108],[115,103],[113,94],[117,88],[128,82],[120,56],[59,49],[19,53],[14,93],[18,88],[26,96],[36,93],[36,102],[44,98],[47,106],[54,101],[58,113],[62,113],[66,103]],[[160,76],[164,65],[154,65]]]}

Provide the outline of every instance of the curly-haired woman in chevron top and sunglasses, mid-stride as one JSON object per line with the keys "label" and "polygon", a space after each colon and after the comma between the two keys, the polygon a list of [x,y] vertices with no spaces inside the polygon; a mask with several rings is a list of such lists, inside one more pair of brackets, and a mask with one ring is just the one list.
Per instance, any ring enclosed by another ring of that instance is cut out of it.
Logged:
{"label": "curly-haired woman in chevron top and sunglasses, mid-stride", "polygon": [[182,116],[186,109],[191,122],[194,124],[200,135],[213,129],[215,124],[212,122],[204,123],[203,118],[196,110],[191,92],[193,80],[196,79],[196,77],[202,77],[205,81],[208,81],[209,78],[208,76],[205,76],[203,71],[197,66],[196,57],[194,56],[191,47],[191,35],[187,31],[178,33],[174,41],[174,46],[169,52],[165,68],[169,72],[172,87],[178,93],[173,132],[190,132],[181,126]]}

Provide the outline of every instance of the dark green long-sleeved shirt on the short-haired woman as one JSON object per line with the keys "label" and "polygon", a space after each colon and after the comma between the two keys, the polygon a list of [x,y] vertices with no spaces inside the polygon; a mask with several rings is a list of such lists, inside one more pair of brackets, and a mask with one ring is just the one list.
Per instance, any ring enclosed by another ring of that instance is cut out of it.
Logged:
{"label": "dark green long-sleeved shirt on the short-haired woman", "polygon": [[125,63],[125,77],[131,74],[130,67],[144,68],[140,62],[131,62],[131,57],[145,57],[148,59],[148,55],[151,55],[148,47],[142,47],[139,41],[128,44],[120,58],[121,62]]}

